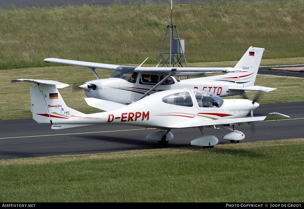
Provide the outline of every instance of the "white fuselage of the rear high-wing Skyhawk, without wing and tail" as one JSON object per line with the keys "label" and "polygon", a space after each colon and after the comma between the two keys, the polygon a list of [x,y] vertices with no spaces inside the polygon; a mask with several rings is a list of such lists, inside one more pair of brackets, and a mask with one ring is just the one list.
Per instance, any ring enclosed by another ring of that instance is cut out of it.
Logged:
{"label": "white fuselage of the rear high-wing Skyhawk, without wing and tail", "polygon": [[[127,76],[123,76],[123,78],[121,77],[111,76],[107,79],[88,81],[86,84],[82,85],[82,88],[85,89],[87,97],[114,101],[121,104],[131,104],[132,102],[137,101],[143,94],[153,88],[158,81],[162,79],[161,76],[147,74],[137,74],[136,78],[133,80],[131,80],[132,76],[130,76],[131,78]],[[232,79],[233,78],[230,78],[230,80]],[[89,88],[87,88],[87,86],[89,86]],[[194,92],[198,90],[206,90],[219,97],[244,94],[248,92],[242,90],[232,91],[229,90],[230,87],[243,87],[243,84],[236,84],[231,81],[225,82],[223,81],[223,76],[200,77],[185,80],[170,77],[163,84],[156,87],[150,94],[181,88],[190,88]]]}

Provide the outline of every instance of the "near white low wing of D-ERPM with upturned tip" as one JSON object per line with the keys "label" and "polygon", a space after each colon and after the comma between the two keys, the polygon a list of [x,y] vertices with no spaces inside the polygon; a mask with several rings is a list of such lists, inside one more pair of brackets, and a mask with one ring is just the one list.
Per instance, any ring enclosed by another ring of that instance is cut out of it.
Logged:
{"label": "near white low wing of D-ERPM with upturned tip", "polygon": [[195,120],[195,121],[188,121],[177,124],[174,127],[170,128],[191,128],[191,127],[199,127],[199,126],[211,126],[211,125],[227,125],[227,124],[237,124],[237,123],[252,123],[256,121],[270,121],[270,120],[283,120],[290,118],[288,115],[283,115],[280,113],[268,113],[267,116],[260,116],[260,117],[248,117],[248,118],[231,118],[231,119],[219,119],[219,120]]}

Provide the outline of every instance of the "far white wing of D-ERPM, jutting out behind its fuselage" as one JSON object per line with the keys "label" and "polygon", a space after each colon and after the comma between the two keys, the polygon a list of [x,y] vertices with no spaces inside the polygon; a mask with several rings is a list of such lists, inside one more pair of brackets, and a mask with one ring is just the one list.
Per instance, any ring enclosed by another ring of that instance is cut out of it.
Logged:
{"label": "far white wing of D-ERPM, jutting out behind its fuselage", "polygon": [[113,102],[113,101],[107,101],[103,99],[97,99],[97,98],[85,98],[85,101],[88,105],[94,108],[98,108],[104,111],[111,111],[116,110],[118,108],[125,107],[126,105]]}

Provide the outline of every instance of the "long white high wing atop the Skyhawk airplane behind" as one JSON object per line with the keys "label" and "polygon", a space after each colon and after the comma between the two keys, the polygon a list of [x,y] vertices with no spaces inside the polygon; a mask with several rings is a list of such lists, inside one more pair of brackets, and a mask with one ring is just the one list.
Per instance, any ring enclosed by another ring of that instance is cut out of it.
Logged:
{"label": "long white high wing atop the Skyhawk airplane behind", "polygon": [[[47,58],[44,59],[45,62],[54,62],[68,65],[77,65],[84,66],[89,68],[102,68],[116,70],[120,67],[120,70],[123,68],[130,68],[130,66],[122,65],[112,65],[104,63],[94,63],[94,62],[84,62],[76,60],[64,60],[57,58]],[[186,75],[203,75],[205,73],[230,73],[230,72],[249,72],[248,70],[242,70],[234,67],[133,67],[135,72],[149,73],[149,74],[161,74],[161,75],[175,75],[175,76],[186,76]]]}

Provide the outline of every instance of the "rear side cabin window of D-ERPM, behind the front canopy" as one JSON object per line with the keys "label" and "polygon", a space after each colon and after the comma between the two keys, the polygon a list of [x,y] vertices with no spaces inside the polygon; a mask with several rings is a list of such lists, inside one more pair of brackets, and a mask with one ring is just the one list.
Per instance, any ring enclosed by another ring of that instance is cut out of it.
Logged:
{"label": "rear side cabin window of D-ERPM, behind the front canopy", "polygon": [[163,97],[162,101],[171,105],[193,107],[189,92],[180,92]]}

